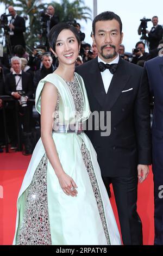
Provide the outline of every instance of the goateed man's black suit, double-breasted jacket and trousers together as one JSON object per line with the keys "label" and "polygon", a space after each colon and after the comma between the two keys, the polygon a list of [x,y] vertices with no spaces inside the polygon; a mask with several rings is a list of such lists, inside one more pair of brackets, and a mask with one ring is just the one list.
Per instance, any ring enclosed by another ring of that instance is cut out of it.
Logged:
{"label": "goateed man's black suit, double-breasted jacket and trousers together", "polygon": [[111,111],[110,136],[102,137],[101,130],[95,129],[87,135],[96,149],[105,186],[111,178],[123,243],[139,245],[142,227],[136,212],[137,164],[151,163],[146,77],[140,66],[120,58],[106,94],[97,58],[78,66],[77,72],[84,79],[91,111],[104,111],[105,121],[106,111]]}

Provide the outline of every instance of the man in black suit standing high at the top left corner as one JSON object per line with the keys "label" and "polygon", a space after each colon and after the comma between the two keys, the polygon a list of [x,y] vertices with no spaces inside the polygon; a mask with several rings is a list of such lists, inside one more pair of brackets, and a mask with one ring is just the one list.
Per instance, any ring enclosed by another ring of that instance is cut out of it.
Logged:
{"label": "man in black suit standing high at the top left corner", "polygon": [[12,19],[9,24],[9,34],[13,53],[15,45],[22,45],[24,48],[26,48],[26,42],[23,35],[23,32],[26,32],[26,24],[24,19],[17,15],[14,7],[9,6],[8,10],[9,13],[12,15]]}

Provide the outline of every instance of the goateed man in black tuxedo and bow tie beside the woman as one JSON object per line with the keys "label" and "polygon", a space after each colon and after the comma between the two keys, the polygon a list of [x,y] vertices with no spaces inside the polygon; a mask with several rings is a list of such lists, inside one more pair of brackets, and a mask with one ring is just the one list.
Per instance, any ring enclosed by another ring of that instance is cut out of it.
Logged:
{"label": "goateed man in black tuxedo and bow tie beside the woman", "polygon": [[137,177],[143,182],[151,164],[147,78],[140,66],[118,55],[123,38],[118,15],[105,11],[95,17],[92,27],[98,57],[77,67],[85,82],[91,111],[99,114],[87,135],[96,149],[106,188],[112,182],[123,243],[142,245],[136,202]]}

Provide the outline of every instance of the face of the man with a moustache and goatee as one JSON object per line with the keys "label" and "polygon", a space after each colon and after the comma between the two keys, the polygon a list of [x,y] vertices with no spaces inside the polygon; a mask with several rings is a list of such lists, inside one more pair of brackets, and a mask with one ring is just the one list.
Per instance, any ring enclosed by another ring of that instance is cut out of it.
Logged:
{"label": "face of the man with a moustache and goatee", "polygon": [[93,42],[96,44],[98,56],[105,62],[111,62],[116,58],[123,33],[120,33],[120,24],[115,19],[97,21]]}

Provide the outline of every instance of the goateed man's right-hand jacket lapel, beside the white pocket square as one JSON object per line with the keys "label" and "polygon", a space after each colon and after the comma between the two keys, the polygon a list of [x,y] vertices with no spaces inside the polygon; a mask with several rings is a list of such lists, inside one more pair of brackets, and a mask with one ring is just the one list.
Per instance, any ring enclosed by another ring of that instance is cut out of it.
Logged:
{"label": "goateed man's right-hand jacket lapel, beside the white pocket square", "polygon": [[123,88],[126,86],[126,83],[128,82],[130,75],[128,74],[128,71],[126,69],[125,65],[126,60],[123,60],[120,58],[117,66],[117,70],[112,77],[105,105],[104,110],[107,109],[107,111],[110,111],[114,103],[117,101],[118,97],[122,93]]}

